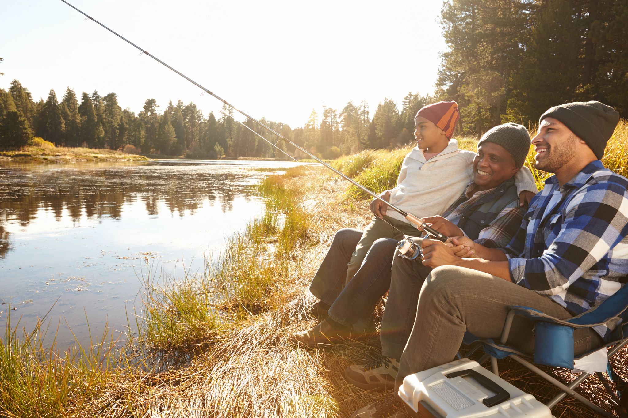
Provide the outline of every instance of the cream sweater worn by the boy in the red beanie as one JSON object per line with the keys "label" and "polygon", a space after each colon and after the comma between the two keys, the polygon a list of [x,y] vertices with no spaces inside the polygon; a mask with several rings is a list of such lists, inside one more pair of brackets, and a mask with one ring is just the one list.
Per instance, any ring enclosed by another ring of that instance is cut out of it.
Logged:
{"label": "cream sweater worn by the boy in the red beanie", "polygon": [[[397,187],[389,191],[390,202],[414,216],[440,215],[473,181],[474,157],[474,152],[458,149],[458,142],[453,138],[447,148],[429,161],[425,160],[423,151],[414,147],[401,164]],[[515,183],[518,193],[537,192],[534,177],[526,167],[517,171]],[[408,222],[392,209],[388,209],[386,215]]]}

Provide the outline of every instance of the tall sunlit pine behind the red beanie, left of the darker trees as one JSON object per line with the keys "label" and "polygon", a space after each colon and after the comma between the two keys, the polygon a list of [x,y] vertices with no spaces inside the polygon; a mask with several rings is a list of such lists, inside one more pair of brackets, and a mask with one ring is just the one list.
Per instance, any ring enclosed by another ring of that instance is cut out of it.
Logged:
{"label": "tall sunlit pine behind the red beanie, left of the darker trees", "polygon": [[512,72],[520,65],[529,27],[528,1],[447,0],[441,27],[448,51],[437,86],[456,100],[467,133],[482,133],[506,113]]}

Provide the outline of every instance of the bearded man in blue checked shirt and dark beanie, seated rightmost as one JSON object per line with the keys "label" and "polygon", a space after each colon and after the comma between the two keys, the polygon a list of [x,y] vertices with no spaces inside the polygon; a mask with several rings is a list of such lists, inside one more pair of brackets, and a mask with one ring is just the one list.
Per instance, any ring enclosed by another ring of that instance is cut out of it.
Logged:
{"label": "bearded man in blue checked shirt and dark beanie, seated rightmost", "polygon": [[[498,338],[508,307],[531,306],[570,318],[622,288],[628,274],[628,180],[599,159],[619,114],[600,102],[550,108],[533,138],[536,168],[555,175],[534,197],[506,251],[460,238],[481,257],[459,258],[444,244],[423,241],[423,264],[435,268],[421,289],[416,317],[399,362],[404,377],[450,362],[470,332]],[[576,354],[600,345],[615,323],[574,332]],[[509,343],[529,352],[532,325],[513,323]],[[396,395],[354,417],[404,416]]]}

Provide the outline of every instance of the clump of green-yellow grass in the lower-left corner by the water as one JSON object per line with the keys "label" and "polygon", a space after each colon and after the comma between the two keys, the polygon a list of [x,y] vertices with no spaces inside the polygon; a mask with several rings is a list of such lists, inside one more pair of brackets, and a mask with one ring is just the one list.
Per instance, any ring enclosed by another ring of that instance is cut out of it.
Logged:
{"label": "clump of green-yellow grass in the lower-left corner by the water", "polygon": [[114,357],[116,340],[107,325],[99,338],[92,338],[90,332],[89,343],[77,340],[62,352],[55,342],[50,347],[44,343],[49,331],[44,328],[46,316],[27,333],[19,320],[11,325],[10,312],[0,344],[0,415],[70,415],[70,410],[97,397],[106,389],[107,380],[122,370]]}

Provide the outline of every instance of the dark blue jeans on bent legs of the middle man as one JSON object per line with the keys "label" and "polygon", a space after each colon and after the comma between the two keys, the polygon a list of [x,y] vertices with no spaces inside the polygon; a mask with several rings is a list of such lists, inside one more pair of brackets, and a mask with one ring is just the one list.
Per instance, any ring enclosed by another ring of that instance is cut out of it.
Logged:
{"label": "dark blue jeans on bent legs of the middle man", "polygon": [[377,301],[390,286],[391,264],[398,242],[392,238],[377,239],[358,271],[344,286],[347,263],[360,238],[362,231],[340,229],[310,286],[312,295],[330,305],[329,317],[342,325],[353,325],[361,318],[370,317]]}

